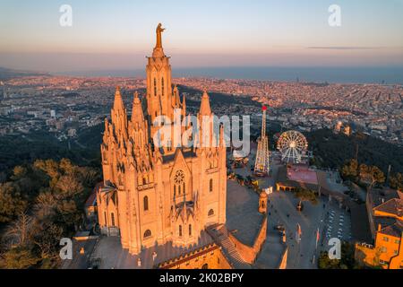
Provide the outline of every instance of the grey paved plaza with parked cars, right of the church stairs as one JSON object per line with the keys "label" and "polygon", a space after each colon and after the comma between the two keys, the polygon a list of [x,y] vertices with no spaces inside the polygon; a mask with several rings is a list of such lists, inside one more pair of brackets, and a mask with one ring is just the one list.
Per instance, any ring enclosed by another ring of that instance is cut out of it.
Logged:
{"label": "grey paved plaza with parked cars, right of the church stairs", "polygon": [[[268,232],[273,232],[278,225],[287,231],[288,260],[287,268],[317,268],[317,258],[321,251],[328,251],[331,238],[342,241],[351,240],[350,213],[340,208],[335,201],[320,197],[316,205],[304,203],[304,210],[298,212],[296,204],[299,199],[290,192],[275,192],[269,196]],[[301,226],[302,237],[296,241],[296,224]],[[319,229],[320,239],[316,247],[316,233]]]}

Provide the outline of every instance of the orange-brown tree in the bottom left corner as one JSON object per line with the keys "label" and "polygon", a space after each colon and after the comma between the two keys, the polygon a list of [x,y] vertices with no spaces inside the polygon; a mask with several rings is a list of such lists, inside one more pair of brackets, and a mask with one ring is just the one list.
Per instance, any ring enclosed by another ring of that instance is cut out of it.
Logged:
{"label": "orange-brown tree in the bottom left corner", "polygon": [[27,269],[38,262],[39,258],[27,247],[11,248],[4,253],[5,269]]}

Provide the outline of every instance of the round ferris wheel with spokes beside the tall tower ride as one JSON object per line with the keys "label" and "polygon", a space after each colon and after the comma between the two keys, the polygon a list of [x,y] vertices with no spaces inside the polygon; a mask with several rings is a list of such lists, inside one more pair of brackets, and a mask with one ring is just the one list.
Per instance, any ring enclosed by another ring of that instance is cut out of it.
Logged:
{"label": "round ferris wheel with spokes beside the tall tower ride", "polygon": [[280,135],[277,149],[281,152],[282,161],[298,163],[306,155],[308,142],[300,132],[287,131]]}

